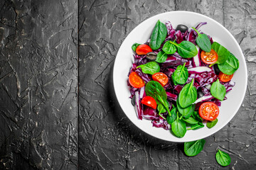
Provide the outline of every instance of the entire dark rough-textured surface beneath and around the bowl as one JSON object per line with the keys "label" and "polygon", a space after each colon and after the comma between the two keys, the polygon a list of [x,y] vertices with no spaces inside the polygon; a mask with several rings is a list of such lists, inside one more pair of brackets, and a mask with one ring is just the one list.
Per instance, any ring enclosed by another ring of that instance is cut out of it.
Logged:
{"label": "entire dark rough-textured surface beneath and around the bowl", "polygon": [[[1,0],[0,8],[0,169],[255,169],[254,0]],[[176,10],[230,30],[248,69],[240,110],[196,157],[138,130],[112,86],[124,38],[146,18]],[[217,148],[230,166],[217,164]]]}

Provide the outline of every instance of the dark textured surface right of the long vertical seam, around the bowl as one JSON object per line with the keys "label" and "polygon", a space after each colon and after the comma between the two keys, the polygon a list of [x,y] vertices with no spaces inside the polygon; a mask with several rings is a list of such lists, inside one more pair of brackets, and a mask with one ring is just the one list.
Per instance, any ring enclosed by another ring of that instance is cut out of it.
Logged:
{"label": "dark textured surface right of the long vertical seam, around the bowl", "polygon": [[[255,1],[80,1],[79,167],[80,169],[255,169],[256,18]],[[186,157],[183,144],[138,130],[119,108],[112,67],[119,46],[146,18],[166,11],[194,11],[221,23],[240,44],[248,67],[245,100],[233,120],[206,138],[203,151]],[[231,157],[221,167],[216,149]]]}

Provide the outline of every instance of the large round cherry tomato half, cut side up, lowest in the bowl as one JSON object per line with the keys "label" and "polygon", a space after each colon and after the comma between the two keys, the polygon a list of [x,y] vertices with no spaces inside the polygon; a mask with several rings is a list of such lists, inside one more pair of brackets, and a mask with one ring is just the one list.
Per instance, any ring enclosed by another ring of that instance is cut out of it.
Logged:
{"label": "large round cherry tomato half, cut side up, lowest in the bowl", "polygon": [[205,120],[215,120],[218,117],[220,110],[218,106],[210,101],[202,103],[199,108],[199,115]]}

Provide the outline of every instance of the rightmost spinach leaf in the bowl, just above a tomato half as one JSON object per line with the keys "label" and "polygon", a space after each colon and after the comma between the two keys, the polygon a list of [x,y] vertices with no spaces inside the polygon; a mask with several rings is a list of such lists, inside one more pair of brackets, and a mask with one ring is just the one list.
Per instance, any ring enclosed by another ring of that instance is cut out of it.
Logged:
{"label": "rightmost spinach leaf in the bowl, just above a tomato half", "polygon": [[223,64],[218,64],[220,71],[228,75],[234,74],[238,67],[239,61],[232,53],[230,53],[228,59]]}

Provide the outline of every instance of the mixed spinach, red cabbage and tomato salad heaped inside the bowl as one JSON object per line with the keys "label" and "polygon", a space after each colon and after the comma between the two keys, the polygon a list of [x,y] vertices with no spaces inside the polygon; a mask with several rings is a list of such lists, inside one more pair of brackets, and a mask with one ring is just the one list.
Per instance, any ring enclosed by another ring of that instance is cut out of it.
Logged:
{"label": "mixed spinach, red cabbage and tomato salad heaped inside the bowl", "polygon": [[183,137],[218,123],[221,101],[232,90],[239,61],[200,28],[157,21],[150,39],[134,43],[128,86],[139,119]]}

